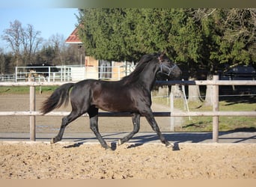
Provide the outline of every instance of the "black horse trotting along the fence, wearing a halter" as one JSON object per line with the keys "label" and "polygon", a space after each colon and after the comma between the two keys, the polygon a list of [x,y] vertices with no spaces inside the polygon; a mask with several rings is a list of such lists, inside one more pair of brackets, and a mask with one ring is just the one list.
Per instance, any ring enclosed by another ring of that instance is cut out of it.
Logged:
{"label": "black horse trotting along the fence, wearing a halter", "polygon": [[[43,102],[41,111],[43,114],[67,105],[69,101],[72,111],[62,118],[61,129],[51,143],[61,141],[65,127],[86,112],[90,117],[90,128],[104,148],[110,148],[98,129],[99,108],[105,111],[130,112],[132,115],[133,130],[129,135],[121,138],[118,144],[129,141],[140,128],[140,117],[147,118],[152,129],[159,135],[166,147],[173,147],[159,130],[151,111],[151,89],[156,79],[156,73],[163,73],[169,77],[180,77],[181,71],[165,54],[153,53],[144,55],[138,62],[135,70],[117,82],[106,82],[94,79],[82,80],[77,83],[67,83],[57,88],[46,101]],[[72,89],[70,93],[70,89]]]}

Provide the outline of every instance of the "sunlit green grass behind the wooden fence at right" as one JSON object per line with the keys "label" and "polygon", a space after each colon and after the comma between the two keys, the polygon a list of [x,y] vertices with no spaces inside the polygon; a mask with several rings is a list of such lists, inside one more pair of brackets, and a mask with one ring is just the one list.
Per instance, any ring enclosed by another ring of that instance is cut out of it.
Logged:
{"label": "sunlit green grass behind the wooden fence at right", "polygon": [[[153,98],[153,102],[169,105],[166,98]],[[212,106],[205,106],[203,102],[189,102],[189,111],[212,111]],[[174,100],[174,108],[186,111],[183,99]],[[256,111],[256,98],[233,97],[219,102],[219,111]],[[211,132],[213,117],[183,117],[183,124],[176,126],[176,132]],[[219,117],[219,131],[256,131],[256,117]]]}

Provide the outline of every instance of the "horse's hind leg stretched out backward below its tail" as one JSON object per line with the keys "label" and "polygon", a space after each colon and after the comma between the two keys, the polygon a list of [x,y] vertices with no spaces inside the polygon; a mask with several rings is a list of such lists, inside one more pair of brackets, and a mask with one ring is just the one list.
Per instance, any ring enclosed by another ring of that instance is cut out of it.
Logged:
{"label": "horse's hind leg stretched out backward below its tail", "polygon": [[58,135],[55,136],[55,138],[52,138],[51,144],[55,144],[58,141],[61,141],[64,130],[66,126],[71,123],[73,120],[76,120],[77,117],[81,116],[82,114],[79,114],[77,111],[71,111],[71,113],[65,117],[62,118],[62,123],[61,123],[61,129],[58,132]]}

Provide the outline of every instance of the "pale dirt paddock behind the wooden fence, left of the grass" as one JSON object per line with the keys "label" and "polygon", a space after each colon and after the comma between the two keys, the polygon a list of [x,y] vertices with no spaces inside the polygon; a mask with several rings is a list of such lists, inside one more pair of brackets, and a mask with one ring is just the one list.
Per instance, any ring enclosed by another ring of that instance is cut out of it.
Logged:
{"label": "pale dirt paddock behind the wooden fence, left of the grass", "polygon": [[[39,110],[44,99],[49,94],[37,94],[36,111]],[[153,111],[170,111],[165,105],[157,105],[153,103]],[[29,111],[29,95],[28,94],[1,94],[0,95],[0,111]],[[55,111],[71,111],[71,106],[67,108],[61,107]],[[175,117],[175,124],[179,124],[182,117]],[[62,117],[38,116],[36,117],[37,132],[58,132],[61,126]],[[170,130],[169,117],[156,117],[159,128],[162,132]],[[100,132],[130,132],[132,131],[131,117],[99,117]],[[141,117],[141,132],[152,132],[150,125],[144,117]],[[0,132],[29,132],[29,117],[21,116],[1,116]],[[69,126],[65,132],[91,132],[88,117],[79,117]]]}

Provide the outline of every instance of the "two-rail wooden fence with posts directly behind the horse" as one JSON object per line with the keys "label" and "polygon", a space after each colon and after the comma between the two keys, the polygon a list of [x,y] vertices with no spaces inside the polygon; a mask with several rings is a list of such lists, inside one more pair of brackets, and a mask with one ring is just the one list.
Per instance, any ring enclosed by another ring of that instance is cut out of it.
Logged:
{"label": "two-rail wooden fence with posts directly behind the horse", "polygon": [[[0,111],[0,116],[30,116],[30,140],[35,141],[35,117],[40,116],[35,111],[35,87],[63,85],[65,82],[0,82],[0,86],[29,86],[30,110],[29,111]],[[155,117],[186,117],[186,116],[210,116],[213,117],[213,142],[219,141],[219,116],[255,116],[256,111],[219,111],[219,85],[256,85],[256,81],[219,81],[219,76],[213,76],[213,80],[207,81],[169,81],[156,82],[156,85],[213,85],[213,111],[173,111],[153,112]],[[52,111],[46,116],[65,116],[66,111]],[[88,116],[84,114],[84,116]],[[100,117],[130,117],[129,113],[100,112]]]}

